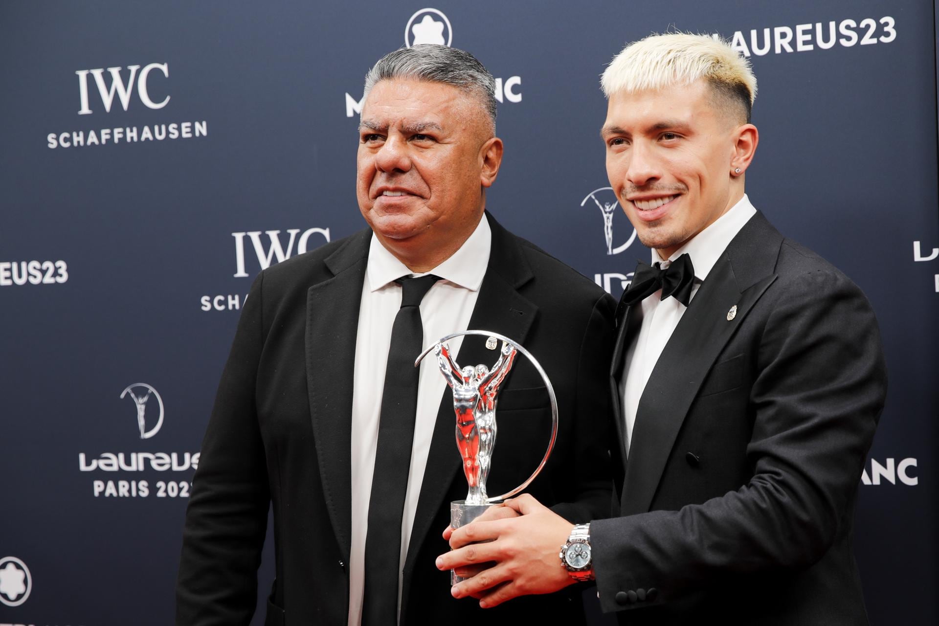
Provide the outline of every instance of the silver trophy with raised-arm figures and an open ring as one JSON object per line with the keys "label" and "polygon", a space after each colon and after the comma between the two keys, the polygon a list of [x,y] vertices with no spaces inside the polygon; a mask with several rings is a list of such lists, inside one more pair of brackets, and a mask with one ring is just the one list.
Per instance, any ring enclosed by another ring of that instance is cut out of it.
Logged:
{"label": "silver trophy with raised-arm figures and an open ring", "polygon": [[[463,335],[482,335],[487,337],[486,347],[495,349],[501,341],[499,359],[491,368],[485,364],[476,366],[466,365],[460,367],[450,354],[446,342],[454,337]],[[531,353],[521,345],[513,344],[512,340],[496,332],[488,330],[464,330],[454,332],[440,339],[423,351],[414,361],[414,367],[420,365],[424,357],[431,352],[437,358],[440,373],[447,380],[447,385],[454,394],[454,413],[456,414],[456,447],[463,460],[463,473],[469,484],[469,492],[465,500],[456,500],[450,503],[450,526],[458,528],[469,524],[489,507],[499,504],[508,497],[515,496],[541,472],[547,463],[554,441],[558,436],[558,401],[554,395],[554,388],[541,363],[531,356]],[[545,381],[545,388],[551,403],[551,437],[547,443],[547,450],[541,463],[535,468],[527,481],[522,482],[512,491],[500,496],[489,497],[485,492],[485,481],[489,477],[492,450],[496,446],[496,403],[499,400],[499,390],[505,377],[509,374],[515,363],[518,353],[525,355],[534,366],[538,374]],[[463,580],[451,571],[451,582],[456,584]]]}

